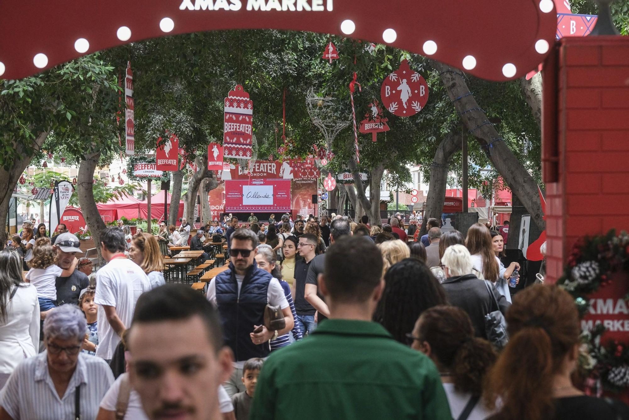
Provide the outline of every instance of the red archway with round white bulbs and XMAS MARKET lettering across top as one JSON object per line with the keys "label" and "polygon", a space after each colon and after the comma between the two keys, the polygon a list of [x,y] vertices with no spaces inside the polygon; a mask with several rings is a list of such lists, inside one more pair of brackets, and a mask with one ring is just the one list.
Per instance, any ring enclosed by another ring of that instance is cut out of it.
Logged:
{"label": "red archway with round white bulbs and XMAS MARKET lettering across top", "polygon": [[6,79],[147,38],[277,29],[387,43],[505,81],[537,68],[557,28],[552,0],[4,0],[0,16]]}

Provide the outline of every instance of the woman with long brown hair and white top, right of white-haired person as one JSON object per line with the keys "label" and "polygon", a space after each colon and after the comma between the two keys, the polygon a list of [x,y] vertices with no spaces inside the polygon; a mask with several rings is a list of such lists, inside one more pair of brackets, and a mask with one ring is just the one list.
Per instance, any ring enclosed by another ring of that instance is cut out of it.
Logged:
{"label": "woman with long brown hair and white top, right of white-haired person", "polygon": [[500,276],[500,260],[494,253],[489,229],[483,224],[475,223],[467,230],[465,247],[472,255],[472,265],[481,271],[486,280],[496,285],[498,292],[511,303],[511,292],[504,277]]}

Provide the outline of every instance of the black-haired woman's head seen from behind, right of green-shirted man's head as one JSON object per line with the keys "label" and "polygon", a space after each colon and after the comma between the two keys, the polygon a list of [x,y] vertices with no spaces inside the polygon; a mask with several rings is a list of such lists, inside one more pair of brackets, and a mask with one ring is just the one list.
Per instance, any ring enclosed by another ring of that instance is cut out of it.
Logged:
{"label": "black-haired woman's head seen from behind, right of green-shirted man's head", "polygon": [[384,280],[384,291],[373,319],[394,339],[410,344],[406,334],[413,331],[415,321],[423,311],[447,303],[445,292],[426,264],[416,258],[393,264]]}

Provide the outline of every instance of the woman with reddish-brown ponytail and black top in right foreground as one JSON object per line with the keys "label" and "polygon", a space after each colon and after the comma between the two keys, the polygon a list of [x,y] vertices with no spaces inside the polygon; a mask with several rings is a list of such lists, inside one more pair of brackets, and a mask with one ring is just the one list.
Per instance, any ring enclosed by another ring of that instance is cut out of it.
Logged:
{"label": "woman with reddish-brown ponytail and black top in right foreground", "polygon": [[574,298],[555,285],[518,293],[506,314],[509,343],[487,375],[492,420],[629,419],[624,404],[588,397],[572,384],[581,341]]}

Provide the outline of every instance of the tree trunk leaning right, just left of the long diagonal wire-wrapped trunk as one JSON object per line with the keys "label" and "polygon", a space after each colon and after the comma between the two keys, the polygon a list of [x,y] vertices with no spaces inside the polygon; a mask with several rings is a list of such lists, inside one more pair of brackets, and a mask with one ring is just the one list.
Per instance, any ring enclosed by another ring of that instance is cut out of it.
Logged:
{"label": "tree trunk leaning right, just left of the long diagonal wire-wrapped trunk", "polygon": [[430,167],[430,184],[428,187],[428,197],[426,197],[426,212],[421,221],[421,235],[426,234],[426,222],[428,222],[430,217],[441,220],[443,201],[445,200],[445,189],[448,181],[448,162],[450,162],[450,158],[460,147],[460,135],[450,133],[441,140],[435,151],[435,158]]}

